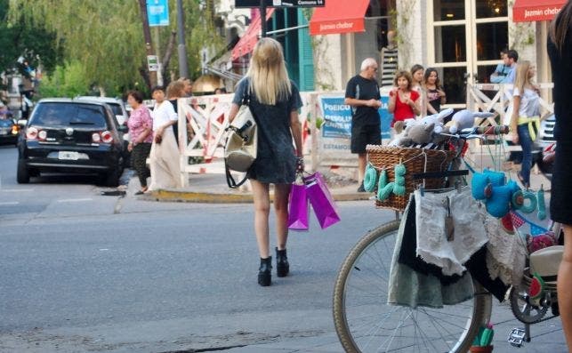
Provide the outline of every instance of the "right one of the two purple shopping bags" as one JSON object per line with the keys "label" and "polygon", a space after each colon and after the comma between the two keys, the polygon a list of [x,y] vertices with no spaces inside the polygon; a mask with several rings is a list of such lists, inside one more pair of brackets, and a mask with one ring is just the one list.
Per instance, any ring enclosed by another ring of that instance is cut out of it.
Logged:
{"label": "right one of the two purple shopping bags", "polygon": [[318,223],[322,229],[326,229],[340,221],[340,215],[335,206],[334,197],[327,189],[326,181],[322,174],[315,172],[304,178],[306,193],[310,205],[316,214]]}

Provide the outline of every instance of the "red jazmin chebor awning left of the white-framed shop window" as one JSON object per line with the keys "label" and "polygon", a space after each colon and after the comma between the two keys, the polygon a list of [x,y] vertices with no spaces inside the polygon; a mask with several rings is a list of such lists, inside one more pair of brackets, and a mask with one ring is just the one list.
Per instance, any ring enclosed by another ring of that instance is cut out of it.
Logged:
{"label": "red jazmin chebor awning left of the white-framed shop window", "polygon": [[316,8],[310,20],[310,36],[365,31],[369,0],[348,3],[348,0],[327,0],[326,6]]}

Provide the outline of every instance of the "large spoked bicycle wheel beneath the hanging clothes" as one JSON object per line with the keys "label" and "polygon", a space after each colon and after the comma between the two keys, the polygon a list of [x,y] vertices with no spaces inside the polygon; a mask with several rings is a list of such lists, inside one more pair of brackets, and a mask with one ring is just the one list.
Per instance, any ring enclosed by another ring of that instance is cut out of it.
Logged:
{"label": "large spoked bicycle wheel beneath the hanging clothes", "polygon": [[367,233],[350,251],[334,287],[334,325],[347,352],[465,353],[491,314],[491,295],[473,281],[474,297],[442,309],[387,303],[399,221]]}

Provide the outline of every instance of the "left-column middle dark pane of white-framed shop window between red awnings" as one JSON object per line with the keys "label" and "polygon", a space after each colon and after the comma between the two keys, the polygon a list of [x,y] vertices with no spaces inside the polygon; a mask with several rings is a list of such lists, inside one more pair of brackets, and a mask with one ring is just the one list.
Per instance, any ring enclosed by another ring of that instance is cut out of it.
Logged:
{"label": "left-column middle dark pane of white-framed shop window between red awnings", "polygon": [[462,62],[467,60],[465,26],[435,28],[435,61]]}

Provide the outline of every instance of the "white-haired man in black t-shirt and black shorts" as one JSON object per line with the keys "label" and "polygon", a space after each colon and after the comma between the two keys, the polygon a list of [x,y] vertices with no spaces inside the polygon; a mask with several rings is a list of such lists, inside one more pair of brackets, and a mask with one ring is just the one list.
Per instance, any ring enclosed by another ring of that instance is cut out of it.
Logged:
{"label": "white-haired man in black t-shirt and black shorts", "polygon": [[345,104],[351,106],[351,153],[358,154],[359,192],[365,192],[367,145],[382,144],[382,124],[377,109],[382,106],[379,85],[375,79],[375,59],[361,63],[359,75],[351,77],[345,91]]}

